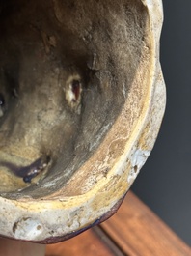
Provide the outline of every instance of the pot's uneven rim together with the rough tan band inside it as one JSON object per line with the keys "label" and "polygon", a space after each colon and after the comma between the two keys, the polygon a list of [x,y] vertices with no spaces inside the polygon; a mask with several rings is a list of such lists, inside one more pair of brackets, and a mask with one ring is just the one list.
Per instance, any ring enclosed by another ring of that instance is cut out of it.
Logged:
{"label": "pot's uneven rim together with the rough tan band inside it", "polygon": [[[57,19],[63,22],[59,8],[62,1],[53,2]],[[83,2],[77,2],[80,8]],[[121,4],[123,7],[124,4],[127,7],[133,5],[134,10],[145,10],[135,13],[134,19],[147,14],[145,46],[141,45],[142,54],[122,110],[94,154],[65,185],[58,185],[57,190],[36,199],[33,193],[18,195],[13,200],[0,197],[1,235],[34,242],[58,242],[78,234],[103,219],[106,213],[107,216],[113,213],[113,207],[122,200],[150,155],[165,107],[165,86],[158,56],[162,4],[160,0],[120,1],[119,4],[106,1],[103,10],[106,8],[112,14],[119,27],[127,15],[121,15]],[[142,8],[136,9],[136,5]],[[130,37],[124,37],[123,41],[123,46],[128,47]],[[123,51],[116,54],[123,55]],[[128,70],[123,72],[123,76],[128,75]],[[48,182],[39,189],[51,191],[57,183],[59,181],[52,179],[52,184]]]}

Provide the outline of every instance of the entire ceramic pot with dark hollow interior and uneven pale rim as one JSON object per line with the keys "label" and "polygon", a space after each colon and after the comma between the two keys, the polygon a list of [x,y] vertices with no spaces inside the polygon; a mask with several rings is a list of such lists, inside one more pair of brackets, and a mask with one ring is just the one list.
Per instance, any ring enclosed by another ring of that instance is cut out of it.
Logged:
{"label": "entire ceramic pot with dark hollow interior and uneven pale rim", "polygon": [[160,0],[0,4],[2,236],[59,242],[116,212],[164,113],[162,20]]}

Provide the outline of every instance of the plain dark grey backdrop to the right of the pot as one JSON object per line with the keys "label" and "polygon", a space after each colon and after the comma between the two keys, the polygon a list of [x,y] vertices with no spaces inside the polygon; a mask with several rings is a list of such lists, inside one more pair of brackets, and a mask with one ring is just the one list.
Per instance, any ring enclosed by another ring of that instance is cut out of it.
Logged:
{"label": "plain dark grey backdrop to the right of the pot", "polygon": [[164,0],[161,65],[167,108],[132,190],[191,245],[191,0]]}

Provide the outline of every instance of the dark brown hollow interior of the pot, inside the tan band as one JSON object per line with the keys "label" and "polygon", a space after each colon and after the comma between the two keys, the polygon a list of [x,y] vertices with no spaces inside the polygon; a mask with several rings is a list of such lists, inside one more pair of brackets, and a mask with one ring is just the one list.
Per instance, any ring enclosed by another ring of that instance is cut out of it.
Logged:
{"label": "dark brown hollow interior of the pot, inside the tan band", "polygon": [[3,196],[60,189],[97,150],[146,45],[140,2],[0,3]]}

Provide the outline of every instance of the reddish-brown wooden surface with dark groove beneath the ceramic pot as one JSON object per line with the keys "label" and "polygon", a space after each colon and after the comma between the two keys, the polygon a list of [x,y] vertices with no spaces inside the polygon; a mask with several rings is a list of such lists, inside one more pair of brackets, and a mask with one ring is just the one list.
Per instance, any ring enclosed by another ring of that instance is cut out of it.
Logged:
{"label": "reddish-brown wooden surface with dark groove beneath the ceramic pot", "polygon": [[118,213],[66,242],[47,245],[46,256],[191,256],[191,248],[128,192]]}

